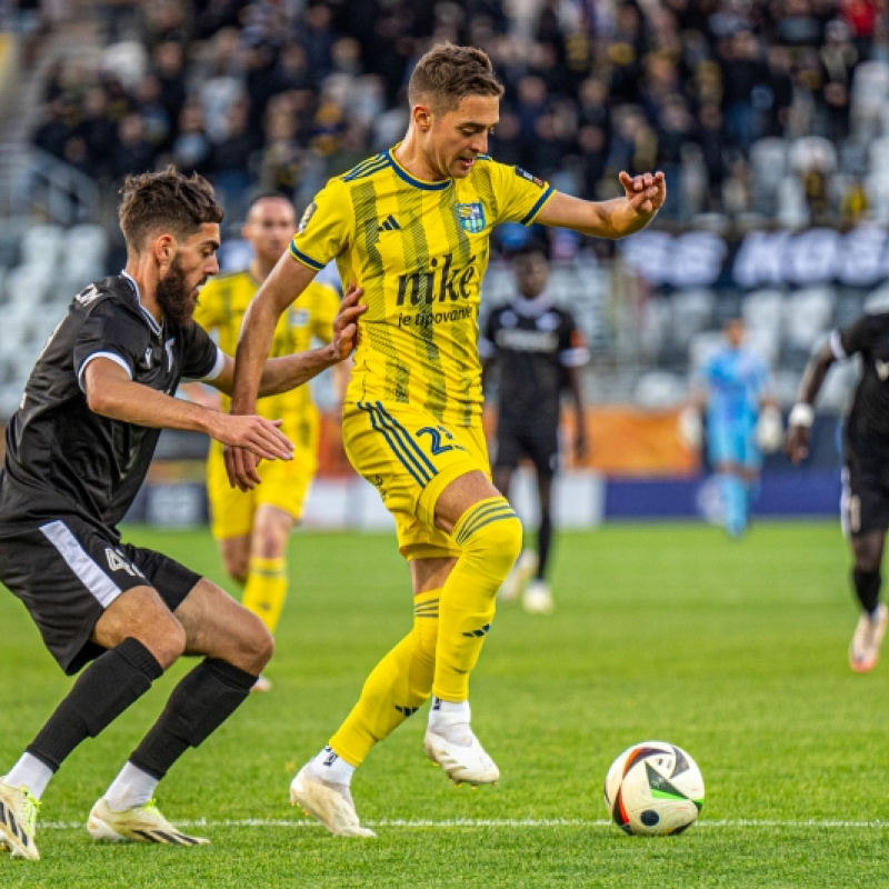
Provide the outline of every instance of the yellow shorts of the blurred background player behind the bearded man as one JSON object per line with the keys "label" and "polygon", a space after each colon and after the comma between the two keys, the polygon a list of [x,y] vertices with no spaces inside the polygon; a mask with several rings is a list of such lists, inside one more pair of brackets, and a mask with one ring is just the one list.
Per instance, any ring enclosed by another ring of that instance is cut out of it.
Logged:
{"label": "yellow shorts of the blurred background player behind the bearded man", "polygon": [[253,513],[262,505],[278,507],[299,521],[318,471],[317,453],[317,447],[298,448],[292,460],[263,460],[259,465],[262,485],[257,485],[252,491],[239,491],[229,486],[222,447],[212,442],[207,458],[207,496],[213,537],[226,540],[249,535],[253,529]]}

